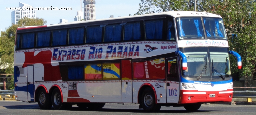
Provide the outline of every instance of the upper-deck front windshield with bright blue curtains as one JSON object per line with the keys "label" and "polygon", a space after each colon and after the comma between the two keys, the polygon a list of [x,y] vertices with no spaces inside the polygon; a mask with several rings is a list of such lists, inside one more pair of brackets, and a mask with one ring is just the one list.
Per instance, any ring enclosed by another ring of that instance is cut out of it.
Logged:
{"label": "upper-deck front windshield with bright blue curtains", "polygon": [[[181,39],[226,39],[221,18],[213,17],[178,17],[176,18],[179,40]],[[205,30],[204,30],[204,28]]]}

